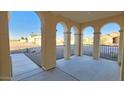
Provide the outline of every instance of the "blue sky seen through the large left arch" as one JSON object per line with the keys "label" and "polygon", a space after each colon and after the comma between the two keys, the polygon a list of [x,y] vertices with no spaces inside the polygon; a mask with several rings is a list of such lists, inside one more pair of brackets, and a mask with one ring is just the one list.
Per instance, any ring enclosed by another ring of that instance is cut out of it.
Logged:
{"label": "blue sky seen through the large left arch", "polygon": [[10,38],[26,37],[31,32],[41,33],[41,21],[34,12],[10,12]]}

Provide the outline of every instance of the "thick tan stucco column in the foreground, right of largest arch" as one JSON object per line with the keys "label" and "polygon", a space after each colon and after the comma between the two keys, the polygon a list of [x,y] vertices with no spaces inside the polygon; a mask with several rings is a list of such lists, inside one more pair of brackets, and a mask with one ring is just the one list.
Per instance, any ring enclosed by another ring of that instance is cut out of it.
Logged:
{"label": "thick tan stucco column in the foreground, right of largest arch", "polygon": [[49,70],[56,67],[56,26],[50,13],[45,13],[43,18],[41,65]]}

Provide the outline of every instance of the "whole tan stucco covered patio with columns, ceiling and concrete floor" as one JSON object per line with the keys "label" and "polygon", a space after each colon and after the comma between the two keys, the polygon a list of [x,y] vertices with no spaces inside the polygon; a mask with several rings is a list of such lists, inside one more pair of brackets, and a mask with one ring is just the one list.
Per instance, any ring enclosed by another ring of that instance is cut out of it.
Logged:
{"label": "whole tan stucco covered patio with columns, ceiling and concrete floor", "polygon": [[[0,80],[124,80],[123,12],[40,11],[35,13],[42,21],[42,51],[39,56],[41,58],[39,62],[41,67],[37,66],[24,54],[13,54],[10,56],[8,35],[9,12],[0,12]],[[100,31],[101,27],[108,22],[115,22],[120,26],[117,62],[100,58]],[[61,60],[56,60],[57,23],[61,23],[64,26],[64,58]],[[86,56],[83,53],[82,32],[87,26],[94,28],[92,56]],[[71,56],[70,51],[70,29],[72,27],[75,30],[75,51],[73,56]],[[25,71],[26,68],[29,68],[29,70]],[[19,70],[23,73],[18,72]]]}

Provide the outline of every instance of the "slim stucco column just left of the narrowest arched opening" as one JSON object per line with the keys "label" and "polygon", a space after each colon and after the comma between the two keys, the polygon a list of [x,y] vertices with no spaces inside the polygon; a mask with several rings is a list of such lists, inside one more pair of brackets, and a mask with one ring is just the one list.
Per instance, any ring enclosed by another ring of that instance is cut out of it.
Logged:
{"label": "slim stucco column just left of the narrowest arched opening", "polygon": [[64,32],[64,59],[70,59],[70,35],[71,32]]}

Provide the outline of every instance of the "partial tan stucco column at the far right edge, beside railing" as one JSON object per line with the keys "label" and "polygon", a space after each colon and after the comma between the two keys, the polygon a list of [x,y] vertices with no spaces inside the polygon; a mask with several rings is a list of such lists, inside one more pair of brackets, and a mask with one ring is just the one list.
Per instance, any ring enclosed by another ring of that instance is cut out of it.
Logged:
{"label": "partial tan stucco column at the far right edge, beside railing", "polygon": [[118,64],[121,65],[122,57],[123,57],[123,29],[120,31],[120,37],[119,37],[119,51],[118,51]]}

